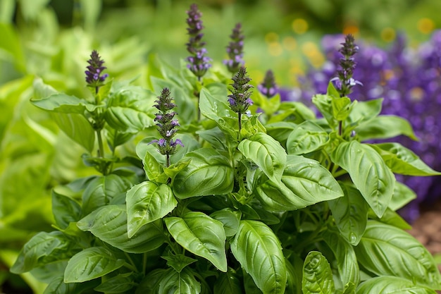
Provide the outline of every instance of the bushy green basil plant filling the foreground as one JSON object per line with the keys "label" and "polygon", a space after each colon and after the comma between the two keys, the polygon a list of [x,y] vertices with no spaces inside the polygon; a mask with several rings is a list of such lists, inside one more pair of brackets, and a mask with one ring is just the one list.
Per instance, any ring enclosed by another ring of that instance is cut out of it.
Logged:
{"label": "bushy green basil plant filling the foreground", "polygon": [[313,97],[316,116],[253,89],[244,66],[231,79],[156,61],[142,87],[111,80],[103,63],[92,52],[89,97],[35,80],[32,104],[95,172],[53,188],[54,231],[24,245],[13,273],[69,294],[441,289],[396,212],[415,194],[395,180],[440,173],[398,143],[373,143],[414,133],[380,115],[382,99],[349,98],[348,75]]}

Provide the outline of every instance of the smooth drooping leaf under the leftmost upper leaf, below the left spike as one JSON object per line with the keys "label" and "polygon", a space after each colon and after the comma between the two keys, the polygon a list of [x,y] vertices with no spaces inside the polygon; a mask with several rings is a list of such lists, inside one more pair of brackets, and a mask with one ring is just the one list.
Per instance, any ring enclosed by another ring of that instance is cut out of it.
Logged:
{"label": "smooth drooping leaf under the leftmost upper leaf, below the left spike", "polygon": [[52,116],[60,129],[89,153],[95,145],[95,131],[82,114],[54,114]]}

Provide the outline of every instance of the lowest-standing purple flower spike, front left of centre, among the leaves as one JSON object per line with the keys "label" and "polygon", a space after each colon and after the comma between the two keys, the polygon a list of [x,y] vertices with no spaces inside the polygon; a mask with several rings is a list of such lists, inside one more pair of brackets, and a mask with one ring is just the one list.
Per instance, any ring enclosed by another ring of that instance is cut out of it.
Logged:
{"label": "lowest-standing purple flower spike, front left of centre, among the leaves", "polygon": [[181,140],[173,140],[173,136],[178,132],[176,127],[179,126],[179,123],[177,119],[174,119],[176,112],[171,111],[176,106],[172,100],[173,98],[170,97],[170,90],[168,88],[163,88],[161,95],[155,100],[156,104],[154,107],[159,110],[159,113],[156,114],[154,121],[156,121],[162,138],[150,142],[150,144],[156,143],[159,153],[167,156],[167,166],[170,165],[170,155],[176,152],[176,146],[184,147]]}

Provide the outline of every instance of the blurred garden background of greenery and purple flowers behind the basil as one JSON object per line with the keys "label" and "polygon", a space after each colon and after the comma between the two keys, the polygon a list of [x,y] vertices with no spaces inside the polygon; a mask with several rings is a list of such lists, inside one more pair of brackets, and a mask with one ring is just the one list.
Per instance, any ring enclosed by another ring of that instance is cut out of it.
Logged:
{"label": "blurred garden background of greenery and purple flowers behind the basil", "polygon": [[[353,34],[361,47],[354,78],[364,83],[354,98],[384,97],[383,112],[408,118],[421,138],[400,142],[441,169],[440,0],[0,0],[0,292],[42,293],[35,278],[8,267],[30,235],[51,230],[51,188],[89,173],[80,147],[30,105],[32,81],[81,95],[85,61],[99,49],[112,78],[145,85],[149,63],[179,67],[187,57],[192,3],[214,70],[242,23],[251,78],[271,69],[285,99],[306,104],[335,76],[339,36]],[[419,204],[440,198],[439,177],[401,180],[418,194],[402,212],[414,221]]]}

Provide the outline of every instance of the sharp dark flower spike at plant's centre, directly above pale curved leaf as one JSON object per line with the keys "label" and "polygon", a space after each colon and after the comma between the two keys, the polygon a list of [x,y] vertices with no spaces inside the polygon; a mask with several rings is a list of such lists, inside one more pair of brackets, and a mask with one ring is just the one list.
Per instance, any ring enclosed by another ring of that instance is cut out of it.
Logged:
{"label": "sharp dark flower spike at plant's centre, directly above pale curved leaf", "polygon": [[242,114],[247,112],[250,105],[253,104],[251,100],[251,88],[249,85],[251,78],[247,75],[247,68],[241,66],[239,71],[232,77],[233,83],[231,94],[228,95],[228,102],[232,111],[235,111],[239,117],[239,131],[242,128]]}

